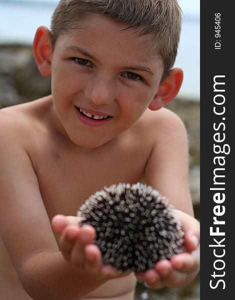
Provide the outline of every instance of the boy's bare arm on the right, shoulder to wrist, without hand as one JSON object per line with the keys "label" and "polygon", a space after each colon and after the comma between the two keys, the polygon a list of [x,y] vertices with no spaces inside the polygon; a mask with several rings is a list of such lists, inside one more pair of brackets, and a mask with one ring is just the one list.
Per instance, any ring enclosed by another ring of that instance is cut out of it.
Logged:
{"label": "boy's bare arm on the right, shoulder to wrist, without hand", "polygon": [[157,121],[153,120],[152,128],[155,133],[144,171],[146,183],[165,195],[176,209],[193,215],[184,124],[176,114],[164,108]]}

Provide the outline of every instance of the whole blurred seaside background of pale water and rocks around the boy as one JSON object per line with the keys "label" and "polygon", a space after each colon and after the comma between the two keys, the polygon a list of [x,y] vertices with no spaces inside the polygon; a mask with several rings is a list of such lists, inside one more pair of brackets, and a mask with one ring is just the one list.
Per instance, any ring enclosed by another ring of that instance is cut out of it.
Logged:
{"label": "whole blurred seaside background of pale water and rocks around the boy", "polygon": [[[167,107],[184,121],[189,142],[189,184],[199,219],[199,0],[178,0],[183,12],[175,66],[184,71],[183,84]],[[39,25],[50,26],[58,0],[0,0],[0,108],[50,93],[49,78],[34,63],[31,44]],[[199,300],[199,275],[182,288],[151,290],[138,282],[136,300]]]}

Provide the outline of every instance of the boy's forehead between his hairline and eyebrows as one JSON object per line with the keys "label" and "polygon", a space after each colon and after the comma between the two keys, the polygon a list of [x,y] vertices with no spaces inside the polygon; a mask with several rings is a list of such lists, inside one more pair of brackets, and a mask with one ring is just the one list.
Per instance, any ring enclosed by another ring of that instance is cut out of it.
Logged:
{"label": "boy's forehead between his hairline and eyebrows", "polygon": [[[64,47],[80,43],[111,50],[123,50],[129,56],[135,56],[142,61],[161,61],[161,57],[153,44],[151,34],[141,34],[141,27],[130,27],[119,23],[109,16],[94,14],[81,21],[74,22],[72,29],[61,35]],[[120,53],[121,54],[121,53]]]}

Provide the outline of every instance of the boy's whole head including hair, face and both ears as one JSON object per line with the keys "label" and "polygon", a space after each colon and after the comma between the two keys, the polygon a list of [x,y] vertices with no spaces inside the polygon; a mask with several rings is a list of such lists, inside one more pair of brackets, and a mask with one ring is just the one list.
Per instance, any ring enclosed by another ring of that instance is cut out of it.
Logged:
{"label": "boy's whole head including hair, face and both ears", "polygon": [[51,76],[61,133],[97,147],[130,128],[147,107],[172,100],[182,82],[182,70],[170,69],[179,28],[174,0],[60,1],[51,32],[37,29],[33,54],[41,74]]}

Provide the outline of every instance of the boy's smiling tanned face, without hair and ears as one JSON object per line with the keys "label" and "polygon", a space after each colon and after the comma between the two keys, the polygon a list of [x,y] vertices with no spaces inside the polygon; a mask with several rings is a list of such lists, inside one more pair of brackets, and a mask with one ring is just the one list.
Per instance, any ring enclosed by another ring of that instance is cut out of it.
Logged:
{"label": "boy's smiling tanned face, without hair and ears", "polygon": [[53,103],[64,133],[77,145],[97,147],[116,137],[138,120],[157,92],[162,62],[150,50],[149,36],[126,27],[94,15],[56,41]]}

